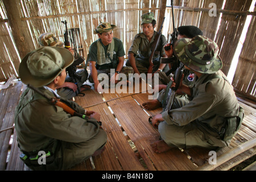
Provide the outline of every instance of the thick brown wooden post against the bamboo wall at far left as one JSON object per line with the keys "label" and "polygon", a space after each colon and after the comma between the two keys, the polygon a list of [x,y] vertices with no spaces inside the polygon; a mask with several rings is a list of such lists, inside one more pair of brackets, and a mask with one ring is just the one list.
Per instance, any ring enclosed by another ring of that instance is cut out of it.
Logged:
{"label": "thick brown wooden post against the bamboo wall at far left", "polygon": [[34,44],[32,43],[30,32],[28,31],[26,22],[20,20],[18,0],[13,0],[11,3],[9,0],[3,0],[3,5],[5,5],[14,42],[19,51],[19,56],[22,59],[28,52],[35,49],[35,47],[32,46]]}

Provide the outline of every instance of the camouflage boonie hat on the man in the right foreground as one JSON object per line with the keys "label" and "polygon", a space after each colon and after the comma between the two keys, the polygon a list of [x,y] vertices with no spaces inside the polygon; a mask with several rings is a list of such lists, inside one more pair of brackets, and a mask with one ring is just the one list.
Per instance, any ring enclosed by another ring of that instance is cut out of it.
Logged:
{"label": "camouflage boonie hat on the man in the right foreground", "polygon": [[183,38],[174,45],[175,55],[187,67],[196,72],[212,74],[222,68],[218,46],[213,40],[197,35],[193,39]]}

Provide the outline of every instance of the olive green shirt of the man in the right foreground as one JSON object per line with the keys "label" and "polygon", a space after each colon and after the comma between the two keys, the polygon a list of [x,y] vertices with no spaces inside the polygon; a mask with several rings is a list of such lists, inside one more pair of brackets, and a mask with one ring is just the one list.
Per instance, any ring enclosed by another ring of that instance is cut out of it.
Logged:
{"label": "olive green shirt of the man in the right foreground", "polygon": [[238,115],[239,105],[233,86],[226,80],[221,71],[216,75],[223,78],[214,78],[207,82],[208,74],[202,75],[193,87],[192,100],[182,107],[162,113],[163,119],[169,125],[184,126],[197,121],[204,130],[220,132],[225,118]]}

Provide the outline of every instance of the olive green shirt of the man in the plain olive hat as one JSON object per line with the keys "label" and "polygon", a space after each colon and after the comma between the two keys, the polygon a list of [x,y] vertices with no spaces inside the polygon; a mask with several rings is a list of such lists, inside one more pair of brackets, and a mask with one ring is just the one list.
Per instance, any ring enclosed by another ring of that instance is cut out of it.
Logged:
{"label": "olive green shirt of the man in the plain olive hat", "polygon": [[[55,97],[47,89],[40,90],[48,97]],[[85,113],[75,102],[62,99],[77,113]],[[34,90],[27,88],[15,110],[15,129],[21,150],[31,152],[51,148],[54,152],[59,150],[61,141],[79,143],[93,138],[100,126],[94,118],[71,116],[62,107],[49,104]]]}

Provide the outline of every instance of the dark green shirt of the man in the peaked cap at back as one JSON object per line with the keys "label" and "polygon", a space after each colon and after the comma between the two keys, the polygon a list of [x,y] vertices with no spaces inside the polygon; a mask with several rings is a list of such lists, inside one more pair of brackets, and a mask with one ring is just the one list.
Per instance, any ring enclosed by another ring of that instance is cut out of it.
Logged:
{"label": "dark green shirt of the man in the peaked cap at back", "polygon": [[[154,31],[154,35],[149,42],[146,36],[143,34],[143,32],[137,34],[135,38],[133,39],[133,43],[131,44],[131,47],[128,51],[128,53],[134,53],[135,60],[141,62],[145,65],[145,67],[148,67],[148,59],[151,55],[151,47],[154,44],[154,40],[156,38],[156,35],[158,32]],[[160,43],[158,44],[158,47],[156,48],[156,54],[157,56],[154,57],[154,60],[158,60],[160,56],[165,55],[164,52],[164,45],[167,44],[166,37],[164,35],[161,35]]]}

